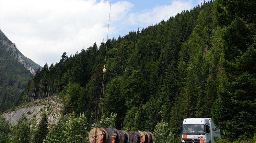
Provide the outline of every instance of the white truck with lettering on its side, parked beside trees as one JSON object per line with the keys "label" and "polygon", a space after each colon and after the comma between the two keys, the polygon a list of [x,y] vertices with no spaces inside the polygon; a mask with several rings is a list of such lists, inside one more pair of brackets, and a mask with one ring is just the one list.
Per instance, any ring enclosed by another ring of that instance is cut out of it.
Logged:
{"label": "white truck with lettering on its side, parked beside trees", "polygon": [[220,129],[216,128],[211,118],[186,118],[182,124],[183,143],[199,143],[197,138],[203,135],[205,143],[214,143],[213,137],[220,138]]}

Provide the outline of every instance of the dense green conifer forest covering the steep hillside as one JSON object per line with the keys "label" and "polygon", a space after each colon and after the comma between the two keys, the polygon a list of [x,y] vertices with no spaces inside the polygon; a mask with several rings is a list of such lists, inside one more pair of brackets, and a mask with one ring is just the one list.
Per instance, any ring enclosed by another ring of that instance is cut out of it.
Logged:
{"label": "dense green conifer forest covering the steep hillside", "polygon": [[[116,128],[153,132],[166,125],[178,138],[184,118],[212,117],[226,133],[222,142],[249,141],[256,131],[255,6],[204,2],[79,53],[64,52],[59,62],[37,71],[21,102],[57,94],[63,114],[74,111],[71,119],[93,123],[101,99],[100,117],[117,114]],[[53,128],[47,141],[57,138],[53,131],[65,139],[67,129],[61,128],[63,134]]]}

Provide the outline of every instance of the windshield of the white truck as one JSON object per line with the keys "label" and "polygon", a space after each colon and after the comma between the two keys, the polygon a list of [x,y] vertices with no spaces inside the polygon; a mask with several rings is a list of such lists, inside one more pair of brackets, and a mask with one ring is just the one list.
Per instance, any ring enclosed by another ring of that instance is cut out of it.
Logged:
{"label": "windshield of the white truck", "polygon": [[203,124],[186,124],[182,126],[182,134],[203,134],[205,125]]}

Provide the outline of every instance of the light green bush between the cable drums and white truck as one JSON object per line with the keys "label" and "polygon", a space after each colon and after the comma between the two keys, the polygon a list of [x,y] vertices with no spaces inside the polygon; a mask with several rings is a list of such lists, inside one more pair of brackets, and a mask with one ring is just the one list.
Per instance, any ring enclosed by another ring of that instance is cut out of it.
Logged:
{"label": "light green bush between the cable drums and white truck", "polygon": [[153,132],[154,143],[173,143],[176,142],[174,134],[170,131],[168,123],[161,121],[157,123]]}

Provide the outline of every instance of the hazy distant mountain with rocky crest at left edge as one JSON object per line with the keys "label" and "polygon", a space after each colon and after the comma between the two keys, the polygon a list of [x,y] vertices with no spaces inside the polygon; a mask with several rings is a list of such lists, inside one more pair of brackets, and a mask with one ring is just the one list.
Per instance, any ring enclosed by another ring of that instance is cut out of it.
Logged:
{"label": "hazy distant mountain with rocky crest at left edge", "polygon": [[19,104],[21,92],[39,67],[0,30],[0,112]]}

